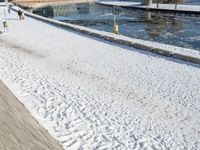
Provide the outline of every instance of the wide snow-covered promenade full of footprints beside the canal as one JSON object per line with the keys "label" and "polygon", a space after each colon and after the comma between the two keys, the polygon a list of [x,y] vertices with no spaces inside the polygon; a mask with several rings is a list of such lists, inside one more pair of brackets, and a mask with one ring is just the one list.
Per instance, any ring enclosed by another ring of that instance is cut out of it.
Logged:
{"label": "wide snow-covered promenade full of footprints beside the canal", "polygon": [[8,25],[0,79],[65,149],[200,148],[200,65],[14,12]]}

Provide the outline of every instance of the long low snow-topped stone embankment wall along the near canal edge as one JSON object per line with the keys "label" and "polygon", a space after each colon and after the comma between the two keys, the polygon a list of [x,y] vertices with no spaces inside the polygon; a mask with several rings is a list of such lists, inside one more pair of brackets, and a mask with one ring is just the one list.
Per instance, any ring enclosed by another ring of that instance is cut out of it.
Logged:
{"label": "long low snow-topped stone embankment wall along the near canal edge", "polygon": [[[15,10],[15,11],[18,11],[18,9],[19,9],[18,7],[13,7],[13,10]],[[29,13],[29,12],[25,12],[25,15],[32,17],[34,19],[49,23],[49,24],[53,24],[53,25],[56,25],[59,27],[77,31],[77,32],[87,34],[87,35],[90,35],[93,37],[97,37],[97,38],[100,38],[100,39],[103,39],[106,41],[133,47],[133,48],[144,50],[144,51],[153,52],[158,55],[171,57],[174,59],[179,59],[179,60],[188,61],[191,63],[200,64],[200,52],[198,52],[198,51],[194,52],[193,54],[190,54],[190,53],[188,53],[188,51],[190,51],[190,50],[185,50],[185,48],[181,48],[181,49],[183,49],[183,52],[180,52],[180,51],[177,52],[177,51],[173,51],[173,50],[176,50],[179,47],[165,45],[165,44],[159,44],[156,42],[149,42],[151,44],[148,44],[148,41],[132,39],[132,38],[128,38],[128,37],[125,37],[122,35],[116,35],[113,33],[97,31],[94,29],[89,29],[86,27],[78,26],[78,25],[64,23],[61,21],[38,16],[38,15]],[[186,53],[185,53],[185,51],[186,51]],[[195,55],[195,53],[196,53],[196,55]]]}

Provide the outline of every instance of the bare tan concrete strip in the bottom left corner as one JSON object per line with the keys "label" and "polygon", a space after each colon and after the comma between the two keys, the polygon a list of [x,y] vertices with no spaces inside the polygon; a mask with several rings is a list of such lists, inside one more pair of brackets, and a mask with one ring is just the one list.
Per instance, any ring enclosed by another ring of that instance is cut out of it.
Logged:
{"label": "bare tan concrete strip in the bottom left corner", "polygon": [[33,119],[0,81],[0,149],[61,150],[61,145]]}

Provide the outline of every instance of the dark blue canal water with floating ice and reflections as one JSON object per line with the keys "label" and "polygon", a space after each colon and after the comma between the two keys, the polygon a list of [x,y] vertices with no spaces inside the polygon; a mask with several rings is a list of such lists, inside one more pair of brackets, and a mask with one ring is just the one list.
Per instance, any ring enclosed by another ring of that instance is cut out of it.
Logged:
{"label": "dark blue canal water with floating ice and reflections", "polygon": [[[189,0],[198,4],[198,0]],[[113,31],[113,8],[93,1],[52,3],[31,9],[35,14],[107,32]],[[200,16],[145,12],[119,8],[119,32],[133,38],[156,41],[200,51]]]}

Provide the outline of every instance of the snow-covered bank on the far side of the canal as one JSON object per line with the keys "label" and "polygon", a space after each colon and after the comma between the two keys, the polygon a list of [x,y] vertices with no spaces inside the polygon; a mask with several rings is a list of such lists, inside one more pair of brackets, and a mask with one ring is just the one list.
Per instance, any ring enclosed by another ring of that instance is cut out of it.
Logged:
{"label": "snow-covered bank on the far side of the canal", "polygon": [[[153,3],[151,6],[141,5],[140,2],[120,1],[120,0],[96,0],[97,3],[104,5],[138,7],[138,8],[157,8],[157,4]],[[159,4],[158,9],[174,10],[175,4]],[[177,10],[200,12],[200,5],[178,4]]]}

